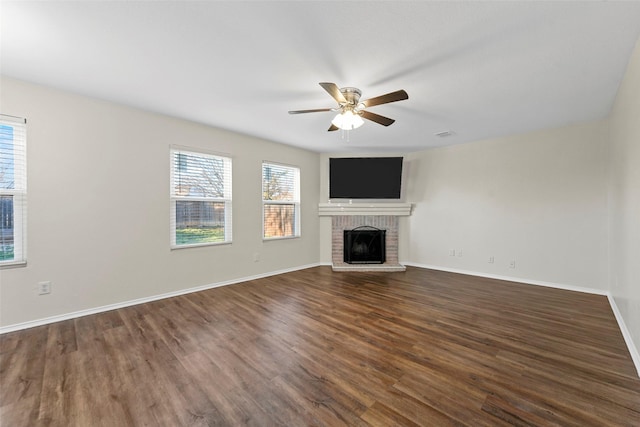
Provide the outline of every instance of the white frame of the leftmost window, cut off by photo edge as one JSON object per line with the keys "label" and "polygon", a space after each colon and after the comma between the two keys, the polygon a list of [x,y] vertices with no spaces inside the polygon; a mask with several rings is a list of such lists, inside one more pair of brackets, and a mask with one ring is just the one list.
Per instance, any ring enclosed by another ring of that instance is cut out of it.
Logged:
{"label": "white frame of the leftmost window, cut off by photo edge", "polygon": [[[13,215],[12,260],[0,260],[0,269],[27,265],[27,120],[0,114],[0,124],[14,128],[12,147],[13,188],[0,188],[0,196],[11,196]],[[16,128],[18,136],[16,136]],[[17,169],[17,170],[16,170]]]}

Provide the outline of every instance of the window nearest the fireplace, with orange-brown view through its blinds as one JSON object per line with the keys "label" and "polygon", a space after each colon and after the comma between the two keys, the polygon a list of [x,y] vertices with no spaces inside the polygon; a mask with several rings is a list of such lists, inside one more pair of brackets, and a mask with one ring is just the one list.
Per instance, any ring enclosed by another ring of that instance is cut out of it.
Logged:
{"label": "window nearest the fireplace, with orange-brown view through its blinds", "polygon": [[300,169],[262,163],[262,236],[300,236]]}

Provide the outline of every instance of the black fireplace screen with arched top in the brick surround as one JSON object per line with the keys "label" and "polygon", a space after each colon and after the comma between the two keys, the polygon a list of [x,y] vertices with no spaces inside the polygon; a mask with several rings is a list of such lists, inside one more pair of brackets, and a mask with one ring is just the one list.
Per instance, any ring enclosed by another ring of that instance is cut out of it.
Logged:
{"label": "black fireplace screen with arched top in the brick surround", "polygon": [[344,230],[344,262],[347,264],[384,264],[386,230],[357,227]]}

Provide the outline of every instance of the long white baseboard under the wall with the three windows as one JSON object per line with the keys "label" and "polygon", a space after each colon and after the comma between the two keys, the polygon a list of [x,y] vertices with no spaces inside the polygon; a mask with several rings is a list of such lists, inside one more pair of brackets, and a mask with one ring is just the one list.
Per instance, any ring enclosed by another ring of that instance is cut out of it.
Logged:
{"label": "long white baseboard under the wall with the three windows", "polygon": [[255,276],[241,277],[238,279],[226,280],[223,282],[211,283],[208,285],[196,286],[195,288],[181,289],[179,291],[167,292],[164,294],[153,295],[150,297],[138,298],[134,300],[119,302],[115,304],[103,305],[101,307],[90,308],[87,310],[74,311],[72,313],[59,314],[56,316],[45,317],[42,319],[31,320],[29,322],[15,323],[13,325],[0,327],[0,335],[8,332],[19,331],[22,329],[34,328],[36,326],[48,325],[50,323],[60,322],[63,320],[75,319],[77,317],[89,316],[91,314],[103,313],[105,311],[117,310],[119,308],[130,307],[132,305],[144,304],[147,302],[157,301],[165,298],[177,297],[180,295],[190,294],[193,292],[200,292],[207,289],[218,288],[220,286],[233,285],[236,283],[248,282],[250,280],[262,279],[269,276],[276,276],[278,274],[290,273],[292,271],[304,270],[311,267],[319,266],[319,263],[302,265],[293,268],[287,268],[284,270],[271,271],[269,273],[257,274]]}

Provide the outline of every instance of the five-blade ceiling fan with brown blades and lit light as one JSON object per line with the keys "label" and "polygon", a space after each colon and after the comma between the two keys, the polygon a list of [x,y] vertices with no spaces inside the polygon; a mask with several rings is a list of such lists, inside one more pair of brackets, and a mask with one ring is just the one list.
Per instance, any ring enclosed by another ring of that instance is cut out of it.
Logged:
{"label": "five-blade ceiling fan with brown blades and lit light", "polygon": [[386,95],[376,96],[364,101],[360,101],[362,92],[355,87],[343,87],[339,88],[335,83],[320,83],[320,86],[326,90],[329,95],[338,102],[338,106],[335,108],[316,108],[313,110],[294,110],[289,111],[289,114],[303,114],[303,113],[319,113],[323,111],[337,111],[338,114],[331,121],[331,126],[328,131],[335,131],[338,129],[352,130],[362,126],[363,118],[371,120],[381,124],[382,126],[389,126],[395,122],[394,119],[381,116],[379,114],[372,113],[365,110],[367,107],[373,107],[374,105],[388,104],[390,102],[402,101],[409,99],[409,95],[404,90],[398,90],[395,92],[387,93]]}

